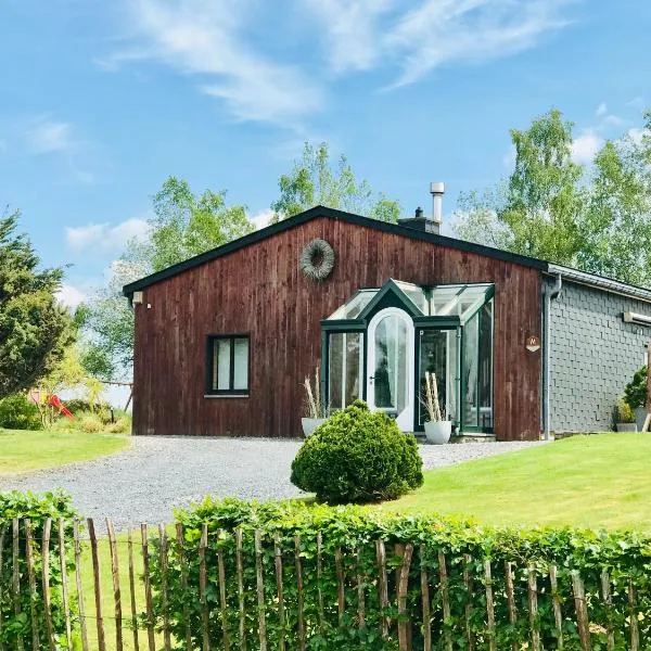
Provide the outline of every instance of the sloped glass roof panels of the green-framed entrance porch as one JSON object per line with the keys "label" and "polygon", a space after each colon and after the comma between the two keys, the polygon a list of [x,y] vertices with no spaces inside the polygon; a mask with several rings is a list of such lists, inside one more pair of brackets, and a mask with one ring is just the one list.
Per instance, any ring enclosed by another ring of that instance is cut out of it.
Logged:
{"label": "sloped glass roof panels of the green-framed entrance porch", "polygon": [[361,319],[366,308],[375,297],[393,291],[404,302],[413,305],[419,316],[458,317],[463,322],[492,298],[493,286],[492,283],[421,286],[392,279],[382,288],[359,290],[328,317],[328,320]]}

